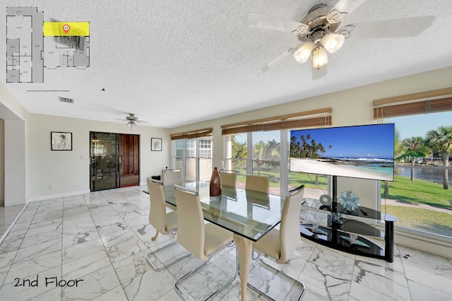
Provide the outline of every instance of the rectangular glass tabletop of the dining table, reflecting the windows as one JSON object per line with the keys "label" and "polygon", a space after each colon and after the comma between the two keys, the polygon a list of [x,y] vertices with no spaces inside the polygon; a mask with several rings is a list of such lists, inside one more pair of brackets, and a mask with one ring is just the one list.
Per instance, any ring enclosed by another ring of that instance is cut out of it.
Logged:
{"label": "rectangular glass tabletop of the dining table, reflecting the windows", "polygon": [[[204,219],[238,235],[257,241],[281,221],[285,197],[222,186],[221,196],[210,196],[208,182],[180,185],[198,191]],[[174,187],[163,187],[165,200],[176,206]]]}

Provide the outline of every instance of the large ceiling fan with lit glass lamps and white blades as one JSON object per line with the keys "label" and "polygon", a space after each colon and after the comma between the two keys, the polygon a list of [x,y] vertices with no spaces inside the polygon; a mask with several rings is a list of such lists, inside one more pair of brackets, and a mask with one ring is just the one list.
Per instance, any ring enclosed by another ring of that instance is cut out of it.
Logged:
{"label": "large ceiling fan with lit glass lamps and white blades", "polygon": [[434,16],[379,20],[347,24],[340,23],[365,0],[339,0],[335,6],[319,4],[312,7],[307,16],[300,22],[285,20],[259,13],[248,13],[240,23],[243,27],[278,30],[296,35],[302,42],[283,52],[279,57],[265,64],[251,75],[251,78],[261,76],[275,65],[293,54],[299,63],[306,62],[311,57],[312,78],[318,79],[326,75],[328,64],[327,52],[333,54],[343,47],[345,39],[378,38],[378,37],[414,37],[432,25]]}

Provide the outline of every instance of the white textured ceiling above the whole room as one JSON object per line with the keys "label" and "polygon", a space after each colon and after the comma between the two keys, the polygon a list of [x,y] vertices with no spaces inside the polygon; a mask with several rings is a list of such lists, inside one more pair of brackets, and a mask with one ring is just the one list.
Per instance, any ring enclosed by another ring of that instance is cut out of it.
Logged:
{"label": "white textured ceiling above the whole room", "polygon": [[[299,21],[312,6],[336,2],[6,0],[6,6],[36,6],[44,21],[89,21],[90,67],[44,70],[44,83],[6,83],[1,71],[1,83],[32,113],[108,122],[134,113],[145,125],[172,128],[452,66],[450,0],[368,0],[342,25],[436,18],[416,37],[345,40],[316,81],[309,63],[293,57],[250,78],[299,42],[288,33],[242,28],[240,18],[254,12]],[[6,26],[0,30],[6,36]]]}

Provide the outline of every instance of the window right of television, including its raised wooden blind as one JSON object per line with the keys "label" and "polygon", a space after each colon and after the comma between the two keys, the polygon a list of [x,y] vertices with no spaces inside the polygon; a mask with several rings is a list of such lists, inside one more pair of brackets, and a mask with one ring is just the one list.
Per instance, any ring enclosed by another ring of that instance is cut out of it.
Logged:
{"label": "window right of television, including its raised wooden blind", "polygon": [[452,237],[452,88],[374,100],[374,119],[396,124],[396,174],[381,211],[396,227]]}

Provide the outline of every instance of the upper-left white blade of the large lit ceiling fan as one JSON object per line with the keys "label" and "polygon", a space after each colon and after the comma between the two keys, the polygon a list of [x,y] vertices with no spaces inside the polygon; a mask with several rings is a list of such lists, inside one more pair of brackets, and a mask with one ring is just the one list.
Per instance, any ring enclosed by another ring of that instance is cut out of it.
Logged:
{"label": "upper-left white blade of the large lit ceiling fan", "polygon": [[246,14],[246,16],[240,20],[240,24],[243,27],[279,30],[284,33],[293,33],[294,35],[307,33],[310,29],[308,25],[303,23],[261,15],[259,13]]}

